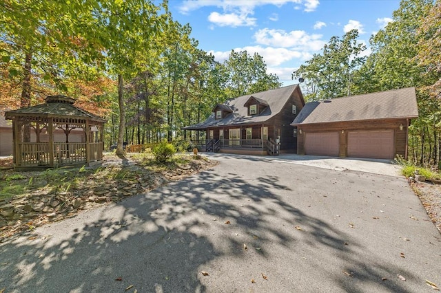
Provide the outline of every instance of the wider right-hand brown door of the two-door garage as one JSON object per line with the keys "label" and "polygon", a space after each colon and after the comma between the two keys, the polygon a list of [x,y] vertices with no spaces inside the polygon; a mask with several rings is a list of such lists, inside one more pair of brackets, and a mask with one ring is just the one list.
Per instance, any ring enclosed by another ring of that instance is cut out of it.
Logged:
{"label": "wider right-hand brown door of the two-door garage", "polygon": [[393,130],[347,133],[348,157],[393,159],[394,150]]}

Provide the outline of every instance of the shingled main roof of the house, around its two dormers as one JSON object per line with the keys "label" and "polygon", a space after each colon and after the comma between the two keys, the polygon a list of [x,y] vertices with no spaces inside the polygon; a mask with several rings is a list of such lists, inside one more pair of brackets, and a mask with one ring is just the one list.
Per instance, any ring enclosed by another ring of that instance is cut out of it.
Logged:
{"label": "shingled main roof of the house, around its two dormers", "polygon": [[[265,122],[280,113],[283,106],[285,106],[289,97],[291,97],[297,87],[298,85],[289,85],[287,87],[269,89],[268,91],[260,91],[256,94],[240,96],[233,100],[228,100],[223,105],[231,108],[233,112],[229,113],[225,118],[216,119],[214,113],[212,113],[204,122],[183,127],[183,129],[197,130],[206,129],[207,127],[223,127]],[[248,108],[244,107],[244,105],[251,97],[266,102],[268,107],[266,107],[260,114],[248,116]]]}

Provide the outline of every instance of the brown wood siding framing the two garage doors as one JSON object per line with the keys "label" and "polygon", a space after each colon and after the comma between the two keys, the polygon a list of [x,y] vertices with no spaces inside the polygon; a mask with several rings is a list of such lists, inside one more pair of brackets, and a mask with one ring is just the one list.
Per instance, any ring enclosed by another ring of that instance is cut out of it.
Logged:
{"label": "brown wood siding framing the two garage doors", "polygon": [[[400,129],[402,125],[402,130]],[[297,153],[305,155],[305,135],[309,132],[338,132],[340,137],[340,157],[348,156],[348,132],[349,131],[393,131],[394,154],[407,158],[407,127],[409,120],[400,119],[384,119],[384,120],[367,120],[367,121],[349,121],[349,122],[328,122],[316,124],[304,124],[298,126]]]}

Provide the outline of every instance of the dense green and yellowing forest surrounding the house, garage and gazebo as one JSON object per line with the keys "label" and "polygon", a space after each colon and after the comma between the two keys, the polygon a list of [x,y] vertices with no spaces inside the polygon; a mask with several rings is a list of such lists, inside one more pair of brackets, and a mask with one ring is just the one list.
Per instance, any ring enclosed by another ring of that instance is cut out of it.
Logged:
{"label": "dense green and yellowing forest surrounding the house, garage and gazebo", "polygon": [[[281,86],[258,54],[223,63],[198,49],[167,1],[4,0],[0,3],[0,111],[53,94],[102,116],[105,146],[189,140],[181,128],[217,103]],[[369,56],[358,31],[333,36],[293,68],[305,100],[416,87],[420,117],[409,127],[409,160],[441,167],[441,0],[402,0]]]}

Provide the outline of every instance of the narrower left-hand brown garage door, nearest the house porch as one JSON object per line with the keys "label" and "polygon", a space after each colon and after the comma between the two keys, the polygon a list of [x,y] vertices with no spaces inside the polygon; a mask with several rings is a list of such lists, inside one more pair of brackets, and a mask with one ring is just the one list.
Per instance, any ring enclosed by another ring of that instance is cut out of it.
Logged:
{"label": "narrower left-hand brown garage door, nearest the house porch", "polygon": [[305,153],[307,155],[338,156],[338,132],[306,133]]}

